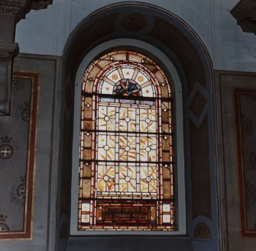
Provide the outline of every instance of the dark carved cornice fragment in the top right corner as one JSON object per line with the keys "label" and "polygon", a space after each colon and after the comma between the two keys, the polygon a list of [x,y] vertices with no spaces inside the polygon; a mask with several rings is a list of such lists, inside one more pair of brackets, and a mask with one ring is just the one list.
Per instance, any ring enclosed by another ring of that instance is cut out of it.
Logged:
{"label": "dark carved cornice fragment in the top right corner", "polygon": [[241,0],[232,8],[231,14],[245,32],[256,34],[256,1]]}

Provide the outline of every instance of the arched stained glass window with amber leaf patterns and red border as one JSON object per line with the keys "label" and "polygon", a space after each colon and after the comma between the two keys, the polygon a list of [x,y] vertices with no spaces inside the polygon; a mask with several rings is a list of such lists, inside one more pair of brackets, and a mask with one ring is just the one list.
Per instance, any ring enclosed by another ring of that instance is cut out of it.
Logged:
{"label": "arched stained glass window with amber leaf patterns and red border", "polygon": [[115,50],[83,77],[78,230],[175,230],[172,92],[149,57]]}

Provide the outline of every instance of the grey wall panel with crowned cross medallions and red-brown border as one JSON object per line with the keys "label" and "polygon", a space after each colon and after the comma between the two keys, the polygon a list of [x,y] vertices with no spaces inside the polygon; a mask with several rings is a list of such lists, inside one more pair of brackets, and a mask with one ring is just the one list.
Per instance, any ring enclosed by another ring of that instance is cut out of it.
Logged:
{"label": "grey wall panel with crowned cross medallions and red-brown border", "polygon": [[31,238],[39,76],[14,72],[12,88],[0,121],[0,239]]}

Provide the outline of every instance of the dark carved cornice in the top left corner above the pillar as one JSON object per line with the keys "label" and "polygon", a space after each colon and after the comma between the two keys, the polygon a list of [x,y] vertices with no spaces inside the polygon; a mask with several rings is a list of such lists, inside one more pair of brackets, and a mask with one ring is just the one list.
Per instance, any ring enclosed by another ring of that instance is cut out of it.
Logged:
{"label": "dark carved cornice in the top left corner above the pillar", "polygon": [[52,3],[53,0],[0,0],[0,14],[15,15],[15,22],[18,23],[31,9],[41,10]]}

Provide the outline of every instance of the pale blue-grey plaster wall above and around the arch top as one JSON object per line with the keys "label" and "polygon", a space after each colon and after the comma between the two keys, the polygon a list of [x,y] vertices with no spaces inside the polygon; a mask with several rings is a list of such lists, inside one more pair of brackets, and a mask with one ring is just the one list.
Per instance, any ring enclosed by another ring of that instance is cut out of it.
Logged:
{"label": "pale blue-grey plaster wall above and around the arch top", "polygon": [[[99,8],[116,2],[54,0],[46,10],[31,11],[18,23],[16,42],[22,53],[63,54],[67,38],[84,18]],[[177,14],[190,24],[206,44],[215,69],[254,71],[256,37],[246,34],[236,24],[230,10],[238,0],[147,0]]]}

